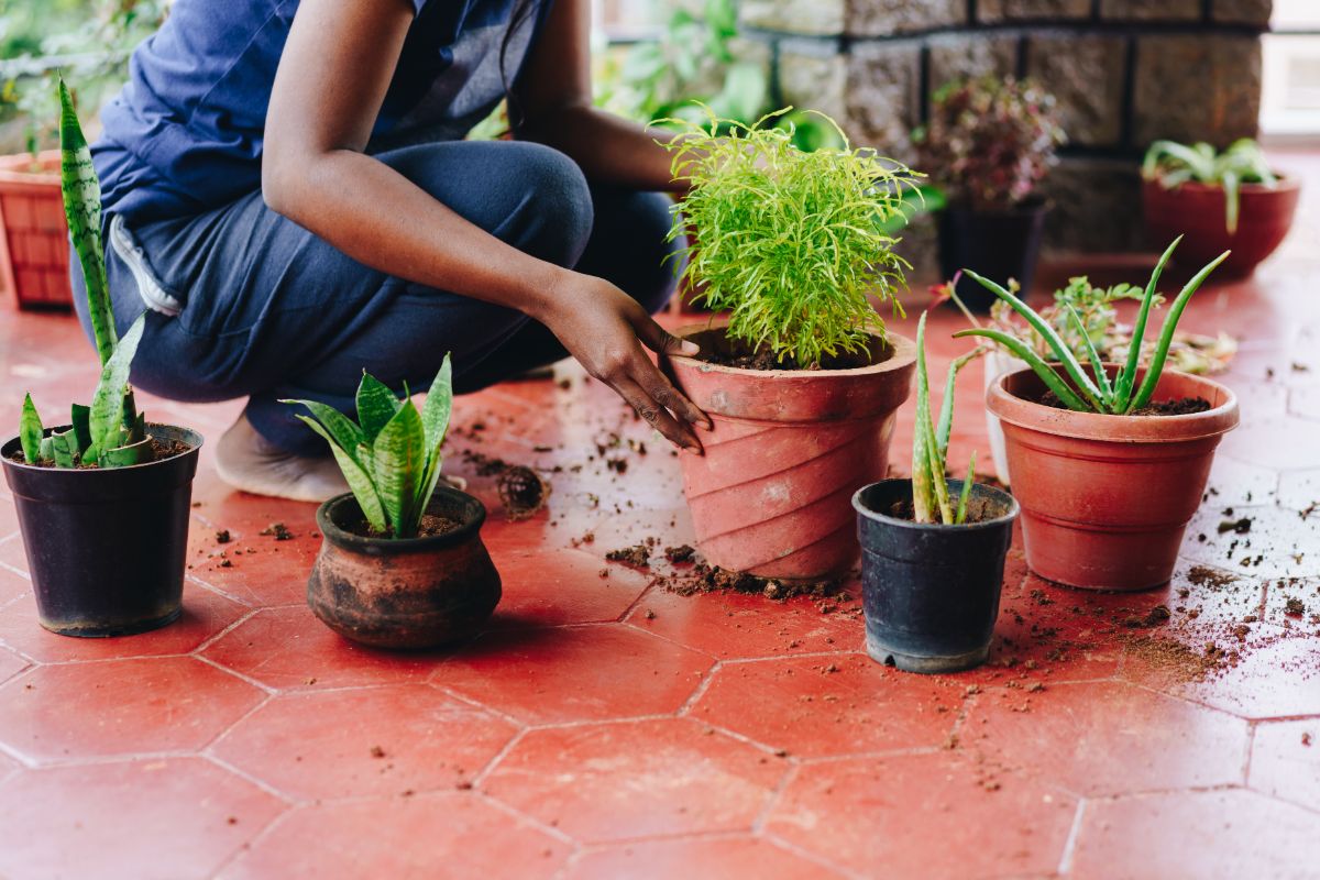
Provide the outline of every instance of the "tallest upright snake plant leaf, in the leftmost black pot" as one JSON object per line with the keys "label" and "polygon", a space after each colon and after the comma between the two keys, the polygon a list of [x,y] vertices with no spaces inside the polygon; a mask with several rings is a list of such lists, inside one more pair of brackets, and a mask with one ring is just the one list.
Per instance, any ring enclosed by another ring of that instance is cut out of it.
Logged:
{"label": "tallest upright snake plant leaf, in the leftmost black pot", "polygon": [[115,318],[110,310],[110,285],[106,282],[106,251],[100,237],[100,182],[63,78],[59,79],[59,153],[65,218],[86,280],[87,314],[96,339],[96,354],[104,364],[115,352],[116,339]]}

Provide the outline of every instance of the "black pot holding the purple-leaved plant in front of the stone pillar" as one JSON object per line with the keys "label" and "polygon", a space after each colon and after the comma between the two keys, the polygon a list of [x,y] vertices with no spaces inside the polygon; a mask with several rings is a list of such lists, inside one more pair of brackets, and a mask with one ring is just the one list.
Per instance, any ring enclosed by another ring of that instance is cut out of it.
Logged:
{"label": "black pot holding the purple-leaved plant in front of the stone pillar", "polygon": [[[1048,210],[1040,199],[1002,210],[949,206],[940,212],[940,272],[952,278],[968,268],[999,284],[1015,278],[1030,292]],[[958,278],[958,298],[977,311],[995,301],[972,278]]]}

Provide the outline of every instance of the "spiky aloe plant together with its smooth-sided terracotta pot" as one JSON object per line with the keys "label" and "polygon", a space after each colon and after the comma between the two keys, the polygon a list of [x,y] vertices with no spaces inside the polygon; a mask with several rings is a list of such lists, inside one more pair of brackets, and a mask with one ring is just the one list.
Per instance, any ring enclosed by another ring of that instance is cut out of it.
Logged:
{"label": "spiky aloe plant together with its smooth-sided terracotta pot", "polygon": [[[972,327],[1027,361],[1001,376],[987,405],[1003,424],[1014,495],[1022,504],[1027,565],[1074,587],[1143,590],[1173,571],[1183,529],[1205,491],[1214,449],[1238,421],[1237,398],[1200,376],[1166,369],[1170,342],[1188,299],[1228,256],[1193,276],[1170,306],[1150,365],[1140,342],[1164,251],[1142,298],[1127,360],[1105,364],[1085,344],[1088,375],[1055,329],[1005,288],[968,272],[1044,338],[1057,364],[998,330]],[[1080,321],[1074,310],[1069,318]]]}

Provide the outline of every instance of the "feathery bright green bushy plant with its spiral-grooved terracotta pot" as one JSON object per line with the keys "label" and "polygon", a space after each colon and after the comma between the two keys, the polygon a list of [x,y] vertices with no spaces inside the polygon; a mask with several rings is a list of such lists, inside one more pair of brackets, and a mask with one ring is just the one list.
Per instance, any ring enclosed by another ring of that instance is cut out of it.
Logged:
{"label": "feathery bright green bushy plant with its spiral-grooved terracotta pot", "polygon": [[846,141],[804,152],[772,121],[713,117],[671,145],[690,185],[671,231],[692,235],[684,277],[729,317],[680,329],[701,354],[667,364],[714,422],[681,458],[706,558],[821,578],[857,559],[850,497],[883,479],[912,381],[912,343],[869,297],[896,303],[907,263],[882,224],[917,175]]}

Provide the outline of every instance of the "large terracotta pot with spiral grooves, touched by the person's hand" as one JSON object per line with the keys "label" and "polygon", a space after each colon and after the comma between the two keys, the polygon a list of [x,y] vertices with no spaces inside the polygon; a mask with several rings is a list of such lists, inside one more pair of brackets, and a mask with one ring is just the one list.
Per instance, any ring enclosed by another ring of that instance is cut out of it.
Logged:
{"label": "large terracotta pot with spiral grooves, touched by the person's hand", "polygon": [[[704,348],[719,322],[682,327]],[[915,371],[909,339],[875,340],[857,369],[741,369],[671,356],[678,388],[714,422],[704,455],[685,454],[684,491],[697,544],[725,569],[766,578],[825,578],[857,561],[853,493],[884,479],[895,410]]]}

